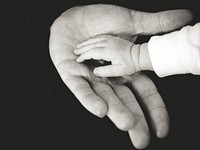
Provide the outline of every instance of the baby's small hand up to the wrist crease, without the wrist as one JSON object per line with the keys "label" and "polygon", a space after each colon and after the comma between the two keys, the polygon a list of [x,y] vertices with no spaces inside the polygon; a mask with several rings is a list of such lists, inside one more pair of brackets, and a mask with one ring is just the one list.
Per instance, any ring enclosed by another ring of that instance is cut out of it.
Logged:
{"label": "baby's small hand up to the wrist crease, without the wrist", "polygon": [[133,43],[110,35],[91,38],[77,45],[74,50],[77,62],[89,59],[110,61],[111,65],[94,69],[94,74],[101,77],[116,77],[134,74],[137,69],[131,56]]}

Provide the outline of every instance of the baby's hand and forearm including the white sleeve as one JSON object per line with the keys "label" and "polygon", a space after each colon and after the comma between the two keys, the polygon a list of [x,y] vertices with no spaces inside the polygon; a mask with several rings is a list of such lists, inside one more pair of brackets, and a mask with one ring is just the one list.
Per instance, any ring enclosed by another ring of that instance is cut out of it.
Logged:
{"label": "baby's hand and forearm including the white sleeve", "polygon": [[114,77],[152,70],[159,77],[191,73],[200,75],[200,23],[185,26],[162,36],[153,36],[141,45],[110,35],[91,38],[77,45],[77,62],[88,59],[110,61],[94,70],[97,76]]}

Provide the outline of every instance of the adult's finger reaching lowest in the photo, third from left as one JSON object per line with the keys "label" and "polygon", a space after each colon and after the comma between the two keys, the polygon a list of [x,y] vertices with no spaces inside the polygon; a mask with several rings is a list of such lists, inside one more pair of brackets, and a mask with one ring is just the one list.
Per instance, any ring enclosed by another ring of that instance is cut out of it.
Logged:
{"label": "adult's finger reaching lowest in the photo, third from left", "polygon": [[149,144],[150,135],[141,107],[128,87],[115,86],[114,91],[134,117],[135,125],[128,131],[133,145],[138,149],[145,148]]}

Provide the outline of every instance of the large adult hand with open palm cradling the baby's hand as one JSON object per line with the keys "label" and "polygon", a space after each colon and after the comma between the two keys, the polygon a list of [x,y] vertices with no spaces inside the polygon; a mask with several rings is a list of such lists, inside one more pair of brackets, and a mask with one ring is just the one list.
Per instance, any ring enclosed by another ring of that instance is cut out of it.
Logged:
{"label": "large adult hand with open palm cradling the baby's hand", "polygon": [[149,128],[138,101],[147,109],[159,138],[169,131],[168,113],[153,82],[142,73],[120,78],[97,77],[92,72],[94,63],[77,63],[73,50],[78,43],[96,35],[134,41],[138,34],[172,31],[190,19],[187,10],[144,13],[114,5],[74,7],[53,23],[50,55],[63,82],[88,111],[99,117],[107,115],[119,129],[129,132],[136,148],[145,148],[150,139]]}

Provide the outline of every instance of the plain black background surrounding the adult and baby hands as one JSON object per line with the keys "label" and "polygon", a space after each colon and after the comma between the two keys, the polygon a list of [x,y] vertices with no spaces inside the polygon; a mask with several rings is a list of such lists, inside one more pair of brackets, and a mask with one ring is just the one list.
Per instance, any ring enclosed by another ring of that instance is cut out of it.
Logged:
{"label": "plain black background surrounding the adult and baby hands", "polygon": [[[48,52],[49,29],[65,10],[107,3],[157,12],[190,9],[191,24],[200,21],[198,1],[189,0],[41,0],[7,1],[2,25],[1,134],[8,149],[126,149],[134,147],[128,134],[105,117],[99,119],[82,107],[61,81]],[[5,42],[4,42],[5,41]],[[5,52],[5,54],[4,54]],[[194,149],[199,146],[200,77],[172,76],[159,79],[149,73],[161,93],[171,119],[170,134],[155,137],[146,149]],[[5,104],[4,104],[5,102]],[[1,147],[1,146],[0,146]]]}

